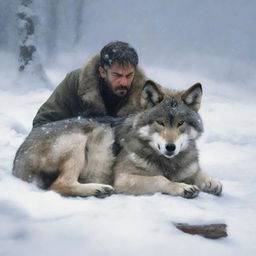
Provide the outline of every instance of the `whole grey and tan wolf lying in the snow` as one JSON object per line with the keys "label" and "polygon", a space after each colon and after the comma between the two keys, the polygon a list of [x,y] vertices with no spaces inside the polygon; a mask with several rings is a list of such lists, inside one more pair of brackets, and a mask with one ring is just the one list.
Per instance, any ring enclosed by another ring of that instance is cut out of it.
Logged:
{"label": "whole grey and tan wolf lying in the snow", "polygon": [[201,95],[200,84],[162,92],[149,82],[142,93],[143,112],[35,128],[16,153],[13,174],[66,196],[103,197],[114,190],[188,198],[199,190],[219,195],[221,183],[203,174],[198,162]]}

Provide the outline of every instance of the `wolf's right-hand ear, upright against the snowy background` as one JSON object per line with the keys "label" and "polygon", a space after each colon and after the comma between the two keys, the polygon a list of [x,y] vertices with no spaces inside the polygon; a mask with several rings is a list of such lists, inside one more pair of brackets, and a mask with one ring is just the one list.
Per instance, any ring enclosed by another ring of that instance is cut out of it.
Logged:
{"label": "wolf's right-hand ear, upright against the snowy background", "polygon": [[202,94],[202,85],[200,83],[196,83],[182,93],[181,99],[192,109],[198,111],[201,105]]}

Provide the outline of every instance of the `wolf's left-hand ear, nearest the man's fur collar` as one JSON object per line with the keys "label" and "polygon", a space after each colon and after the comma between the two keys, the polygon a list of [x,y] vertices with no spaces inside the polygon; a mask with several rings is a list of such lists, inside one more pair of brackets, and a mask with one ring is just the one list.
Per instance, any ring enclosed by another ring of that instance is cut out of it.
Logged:
{"label": "wolf's left-hand ear, nearest the man's fur collar", "polygon": [[146,109],[155,106],[161,102],[164,98],[164,93],[160,87],[157,86],[153,81],[148,80],[141,92],[140,103],[141,106]]}

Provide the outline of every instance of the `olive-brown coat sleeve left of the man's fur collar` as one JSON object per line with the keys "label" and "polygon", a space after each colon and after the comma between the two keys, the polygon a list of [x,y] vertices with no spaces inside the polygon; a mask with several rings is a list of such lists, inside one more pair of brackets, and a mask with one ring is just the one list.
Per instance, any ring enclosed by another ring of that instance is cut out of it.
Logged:
{"label": "olive-brown coat sleeve left of the man's fur collar", "polygon": [[67,74],[48,100],[39,108],[33,120],[33,128],[45,123],[74,117],[79,112],[78,80],[79,70]]}

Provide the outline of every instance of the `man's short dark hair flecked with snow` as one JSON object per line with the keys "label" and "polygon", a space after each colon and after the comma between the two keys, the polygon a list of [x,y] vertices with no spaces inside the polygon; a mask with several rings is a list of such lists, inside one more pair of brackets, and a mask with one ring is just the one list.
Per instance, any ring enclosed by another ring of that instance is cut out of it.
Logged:
{"label": "man's short dark hair flecked with snow", "polygon": [[113,63],[121,66],[131,64],[136,67],[139,58],[137,52],[128,43],[121,41],[110,42],[100,52],[100,66],[107,70]]}

